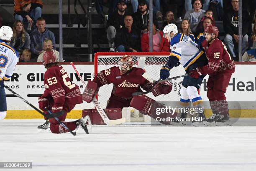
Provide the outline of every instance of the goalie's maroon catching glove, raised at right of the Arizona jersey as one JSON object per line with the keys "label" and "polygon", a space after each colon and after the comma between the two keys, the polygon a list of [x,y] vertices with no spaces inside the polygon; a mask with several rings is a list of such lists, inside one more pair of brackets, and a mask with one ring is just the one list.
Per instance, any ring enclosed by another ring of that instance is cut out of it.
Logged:
{"label": "goalie's maroon catching glove, raised at right of the Arizona jersey", "polygon": [[171,91],[172,91],[172,84],[169,81],[164,81],[162,83],[157,83],[151,92],[156,97],[161,94],[168,94]]}

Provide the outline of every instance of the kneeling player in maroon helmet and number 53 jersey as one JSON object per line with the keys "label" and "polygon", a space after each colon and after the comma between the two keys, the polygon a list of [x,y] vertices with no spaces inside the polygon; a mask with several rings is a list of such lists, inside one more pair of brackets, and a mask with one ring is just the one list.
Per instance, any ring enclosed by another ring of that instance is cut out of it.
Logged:
{"label": "kneeling player in maroon helmet and number 53 jersey", "polygon": [[[43,63],[47,69],[44,73],[44,94],[38,98],[39,108],[48,114],[46,108],[52,113],[64,111],[64,115],[58,117],[60,121],[65,121],[67,113],[70,112],[76,104],[83,103],[79,87],[72,84],[67,72],[56,62],[55,55],[52,51],[46,51],[43,56]],[[68,132],[58,121],[54,118],[49,118],[49,122],[42,126],[41,129],[47,129],[50,123],[50,130],[52,133],[66,133]],[[90,118],[80,118],[73,122],[64,122],[64,124],[74,131],[81,126],[85,132],[91,131]]]}

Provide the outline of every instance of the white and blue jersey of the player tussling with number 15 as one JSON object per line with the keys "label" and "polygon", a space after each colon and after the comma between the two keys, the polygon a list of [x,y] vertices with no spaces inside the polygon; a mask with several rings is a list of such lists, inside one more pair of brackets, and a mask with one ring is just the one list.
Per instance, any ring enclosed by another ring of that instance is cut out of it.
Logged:
{"label": "white and blue jersey of the player tussling with number 15", "polygon": [[182,33],[178,33],[172,38],[170,46],[170,58],[171,56],[177,57],[185,70],[204,54],[202,50],[197,48],[197,44],[189,36]]}

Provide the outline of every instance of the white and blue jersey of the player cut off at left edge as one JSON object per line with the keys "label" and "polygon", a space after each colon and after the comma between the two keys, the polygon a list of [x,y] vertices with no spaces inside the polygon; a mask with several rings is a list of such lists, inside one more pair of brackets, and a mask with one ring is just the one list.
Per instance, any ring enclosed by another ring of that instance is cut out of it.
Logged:
{"label": "white and blue jersey of the player cut off at left edge", "polygon": [[19,60],[17,51],[0,40],[0,80],[9,80]]}

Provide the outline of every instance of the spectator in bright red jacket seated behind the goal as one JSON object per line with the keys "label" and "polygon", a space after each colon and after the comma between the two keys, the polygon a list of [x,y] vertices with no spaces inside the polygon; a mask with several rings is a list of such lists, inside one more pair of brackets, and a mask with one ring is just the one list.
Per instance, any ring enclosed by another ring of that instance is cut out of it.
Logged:
{"label": "spectator in bright red jacket seated behind the goal", "polygon": [[[149,21],[148,21],[148,30],[149,30]],[[153,32],[153,52],[169,52],[170,43],[163,36],[163,31],[157,29],[157,21],[153,20],[152,25]],[[141,37],[141,51],[150,52],[149,47],[149,31],[144,33]]]}

